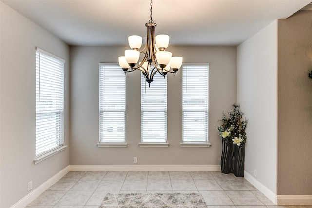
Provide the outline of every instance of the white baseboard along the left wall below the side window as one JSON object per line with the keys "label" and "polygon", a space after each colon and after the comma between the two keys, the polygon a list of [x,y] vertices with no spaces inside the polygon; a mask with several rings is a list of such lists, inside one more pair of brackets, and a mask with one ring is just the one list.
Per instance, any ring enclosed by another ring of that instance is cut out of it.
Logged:
{"label": "white baseboard along the left wall below the side window", "polygon": [[28,193],[25,197],[23,197],[20,201],[12,205],[10,208],[24,208],[29,203],[34,201],[41,193],[43,193],[46,189],[51,187],[53,184],[55,184],[59,179],[61,179],[64,175],[66,175],[69,172],[69,166],[64,168],[63,170],[59,171],[57,174],[52,176],[50,179],[48,179],[46,182],[41,184],[39,187]]}

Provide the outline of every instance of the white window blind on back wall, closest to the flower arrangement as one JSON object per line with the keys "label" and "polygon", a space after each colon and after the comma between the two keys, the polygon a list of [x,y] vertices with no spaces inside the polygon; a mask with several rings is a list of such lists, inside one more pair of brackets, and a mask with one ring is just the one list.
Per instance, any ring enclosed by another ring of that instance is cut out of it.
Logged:
{"label": "white window blind on back wall, closest to the flower arrangement", "polygon": [[182,140],[208,142],[208,65],[184,65],[182,71]]}

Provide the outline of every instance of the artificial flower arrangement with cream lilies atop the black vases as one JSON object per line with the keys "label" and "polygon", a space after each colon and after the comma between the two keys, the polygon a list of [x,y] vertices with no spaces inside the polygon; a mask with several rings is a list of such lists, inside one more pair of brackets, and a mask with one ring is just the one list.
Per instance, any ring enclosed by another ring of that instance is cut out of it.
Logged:
{"label": "artificial flower arrangement with cream lilies atop the black vases", "polygon": [[222,113],[222,119],[220,121],[222,121],[223,124],[219,126],[217,130],[223,139],[229,137],[232,139],[233,144],[240,146],[242,143],[245,143],[247,139],[245,132],[247,120],[243,116],[244,113],[240,111],[239,104],[233,104],[232,107],[232,110],[228,112],[228,118]]}

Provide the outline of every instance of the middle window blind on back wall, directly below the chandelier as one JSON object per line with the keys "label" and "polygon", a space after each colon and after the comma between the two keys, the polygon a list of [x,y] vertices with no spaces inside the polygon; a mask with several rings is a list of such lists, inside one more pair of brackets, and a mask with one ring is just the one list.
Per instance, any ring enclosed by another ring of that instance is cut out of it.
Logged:
{"label": "middle window blind on back wall, directly below the chandelier", "polygon": [[141,142],[167,142],[167,77],[156,73],[151,86],[141,73]]}

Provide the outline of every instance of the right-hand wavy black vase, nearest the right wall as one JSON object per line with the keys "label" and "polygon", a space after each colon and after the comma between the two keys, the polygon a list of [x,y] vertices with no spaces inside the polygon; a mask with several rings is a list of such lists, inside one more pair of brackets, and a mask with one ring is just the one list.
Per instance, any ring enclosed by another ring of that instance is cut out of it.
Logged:
{"label": "right-hand wavy black vase, nearest the right wall", "polygon": [[234,163],[233,170],[236,177],[244,177],[244,164],[245,164],[245,144],[241,143],[240,146],[233,144]]}

